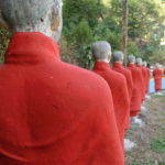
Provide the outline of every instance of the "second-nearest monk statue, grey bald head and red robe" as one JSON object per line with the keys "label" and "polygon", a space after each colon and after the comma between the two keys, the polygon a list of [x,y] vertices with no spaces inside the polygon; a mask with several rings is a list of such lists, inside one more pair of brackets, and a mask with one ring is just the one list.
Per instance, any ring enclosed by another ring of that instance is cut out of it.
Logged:
{"label": "second-nearest monk statue, grey bald head and red robe", "polygon": [[94,72],[103,77],[111,89],[117,125],[123,146],[124,132],[130,118],[130,100],[125,77],[110,68],[111,46],[108,42],[94,43],[92,56],[95,58]]}

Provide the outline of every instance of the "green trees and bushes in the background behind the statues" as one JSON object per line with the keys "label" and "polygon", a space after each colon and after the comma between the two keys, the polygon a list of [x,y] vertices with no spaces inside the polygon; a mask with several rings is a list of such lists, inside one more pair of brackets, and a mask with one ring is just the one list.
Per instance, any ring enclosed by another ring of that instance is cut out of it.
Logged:
{"label": "green trees and bushes in the background behind the statues", "polygon": [[[129,0],[128,54],[141,56],[150,63],[165,63],[165,46],[160,45],[165,31],[163,3],[163,0]],[[122,6],[123,0],[64,0],[61,45],[65,53],[68,50],[72,54],[72,59],[65,59],[72,63],[74,58],[77,65],[90,68],[90,48],[95,41],[108,41],[113,51],[122,50]],[[1,29],[1,61],[8,37],[8,32]]]}

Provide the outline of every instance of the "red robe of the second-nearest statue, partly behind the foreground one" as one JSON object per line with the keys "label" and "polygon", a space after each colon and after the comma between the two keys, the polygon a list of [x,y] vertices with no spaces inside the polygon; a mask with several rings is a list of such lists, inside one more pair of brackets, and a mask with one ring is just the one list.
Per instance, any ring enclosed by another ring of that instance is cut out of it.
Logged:
{"label": "red robe of the second-nearest statue, partly behind the foreground one", "polygon": [[111,89],[117,125],[119,129],[121,142],[123,142],[124,130],[128,127],[128,118],[130,117],[127,80],[123,75],[113,72],[109,64],[105,62],[96,62],[94,72],[102,76]]}

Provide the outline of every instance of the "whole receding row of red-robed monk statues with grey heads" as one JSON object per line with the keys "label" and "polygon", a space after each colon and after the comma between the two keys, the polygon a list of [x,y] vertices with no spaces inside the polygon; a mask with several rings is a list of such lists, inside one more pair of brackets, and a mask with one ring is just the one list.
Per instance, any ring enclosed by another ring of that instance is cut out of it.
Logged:
{"label": "whole receding row of red-robed monk statues with grey heads", "polygon": [[130,55],[124,68],[114,52],[110,68],[105,41],[92,44],[94,72],[62,62],[61,0],[0,0],[0,16],[13,33],[0,66],[0,165],[124,165],[146,63]]}

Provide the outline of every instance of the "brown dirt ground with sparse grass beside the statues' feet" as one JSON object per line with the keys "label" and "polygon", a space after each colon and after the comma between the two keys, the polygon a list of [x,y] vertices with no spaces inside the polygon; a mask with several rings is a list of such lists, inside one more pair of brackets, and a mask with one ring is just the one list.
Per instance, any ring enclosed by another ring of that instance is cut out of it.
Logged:
{"label": "brown dirt ground with sparse grass beside the statues' feet", "polygon": [[147,111],[141,112],[145,127],[133,127],[127,138],[136,146],[127,153],[127,165],[165,165],[165,91],[151,95],[144,102]]}

